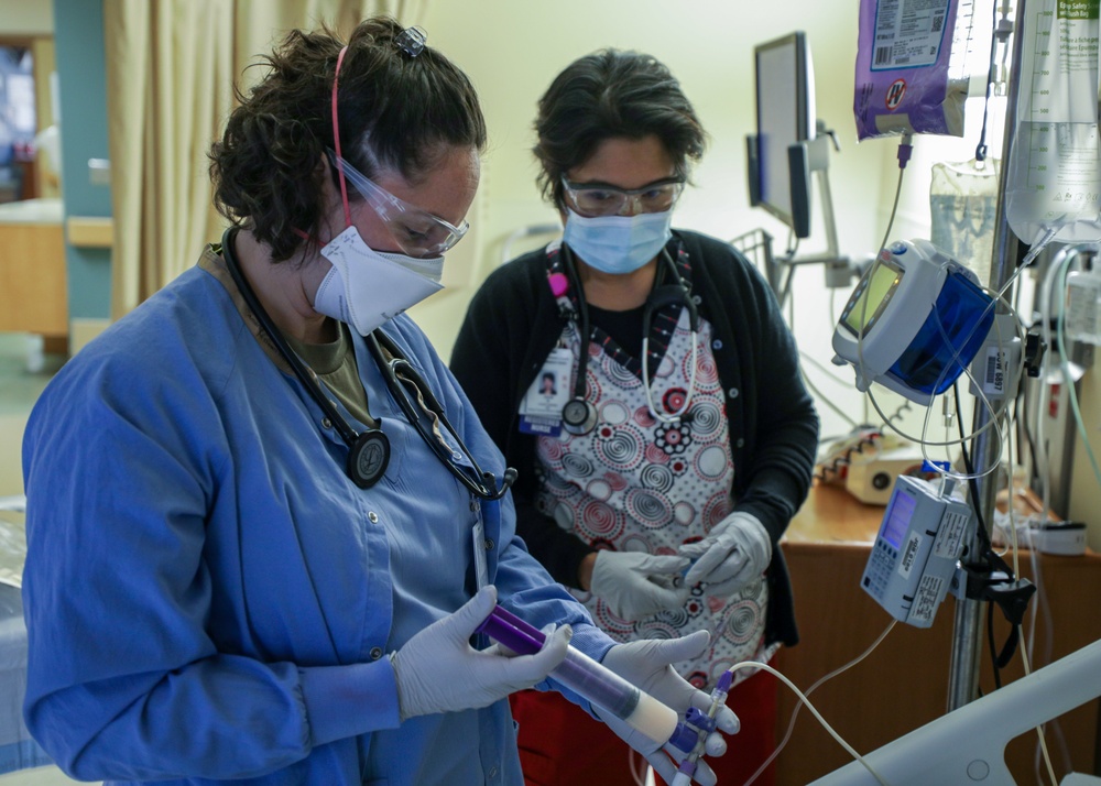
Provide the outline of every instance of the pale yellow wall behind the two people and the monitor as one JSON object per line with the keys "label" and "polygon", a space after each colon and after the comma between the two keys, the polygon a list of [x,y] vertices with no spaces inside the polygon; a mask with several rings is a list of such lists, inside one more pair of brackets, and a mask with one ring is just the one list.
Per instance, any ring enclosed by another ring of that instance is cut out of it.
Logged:
{"label": "pale yellow wall behind the two people and the monitor", "polygon": [[[486,277],[500,262],[513,230],[557,221],[535,186],[530,152],[535,105],[562,68],[603,46],[647,52],[668,65],[710,134],[696,185],[682,198],[675,223],[724,239],[763,227],[783,244],[782,225],[749,206],[744,151],[755,122],[752,51],[755,43],[804,30],[814,54],[817,113],[837,130],[842,148],[830,172],[833,200],[843,206],[837,222],[840,243],[860,254],[871,253],[879,242],[875,236],[886,220],[881,173],[893,161],[894,145],[855,143],[851,103],[857,3],[805,2],[798,12],[780,14],[767,3],[729,0],[434,2],[424,28],[428,42],[469,74],[490,129],[481,209],[471,221],[470,239],[460,244],[477,248],[456,249],[448,261],[448,266],[472,265],[459,276],[464,282],[477,284]],[[824,247],[818,225],[800,251]],[[820,270],[808,277],[820,288]],[[414,310],[445,356],[471,294],[439,295]]]}

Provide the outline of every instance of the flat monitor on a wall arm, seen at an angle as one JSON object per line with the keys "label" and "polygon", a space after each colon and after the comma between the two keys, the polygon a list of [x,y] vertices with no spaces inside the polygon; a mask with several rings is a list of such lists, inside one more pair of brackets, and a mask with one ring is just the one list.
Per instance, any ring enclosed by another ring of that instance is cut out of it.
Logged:
{"label": "flat monitor on a wall arm, seen at an angle", "polygon": [[810,234],[810,162],[815,138],[814,64],[807,36],[789,33],[753,48],[756,133],[748,140],[750,204],[797,238]]}

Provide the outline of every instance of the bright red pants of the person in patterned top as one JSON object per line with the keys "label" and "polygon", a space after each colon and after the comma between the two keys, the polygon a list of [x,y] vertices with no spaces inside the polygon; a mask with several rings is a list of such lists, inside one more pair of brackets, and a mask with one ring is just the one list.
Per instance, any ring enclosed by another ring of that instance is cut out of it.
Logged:
{"label": "bright red pants of the person in patterned top", "polygon": [[[526,786],[640,786],[634,767],[644,773],[645,760],[577,705],[557,692],[523,690],[510,697],[520,724],[520,763]],[[708,758],[719,786],[742,786],[776,745],[776,678],[757,672],[734,686],[727,700],[741,721],[729,736],[723,756]],[[774,786],[775,762],[753,786]],[[657,783],[665,782],[658,777]]]}

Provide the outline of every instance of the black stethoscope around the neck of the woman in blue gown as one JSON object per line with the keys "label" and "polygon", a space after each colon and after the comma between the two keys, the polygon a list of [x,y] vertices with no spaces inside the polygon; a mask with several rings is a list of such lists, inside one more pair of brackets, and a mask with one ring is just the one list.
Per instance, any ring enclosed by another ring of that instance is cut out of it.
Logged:
{"label": "black stethoscope around the neck of the woman in blue gown", "polygon": [[[382,479],[390,463],[390,439],[378,426],[369,426],[364,432],[357,432],[337,411],[336,404],[321,390],[314,372],[308,369],[294,350],[286,343],[283,334],[272,321],[268,312],[257,297],[252,285],[249,284],[244,274],[241,273],[240,264],[237,261],[237,253],[233,250],[233,239],[237,236],[237,227],[230,227],[221,238],[222,256],[226,259],[226,266],[229,268],[230,275],[240,290],[244,302],[257,319],[260,320],[264,331],[271,337],[272,342],[279,350],[283,359],[290,364],[294,375],[305,385],[309,395],[321,407],[325,417],[331,423],[345,444],[348,445],[348,463],[345,471],[356,485],[361,489],[370,489]],[[461,437],[447,417],[444,415],[444,407],[428,390],[421,374],[417,373],[413,364],[402,357],[401,350],[385,334],[372,330],[366,336],[367,347],[374,358],[382,376],[385,380],[386,389],[397,402],[406,419],[414,425],[421,438],[432,448],[436,457],[471,493],[483,500],[500,500],[504,496],[509,487],[516,480],[516,470],[506,468],[501,484],[497,484],[497,477],[492,472],[484,472],[475,461],[473,455],[464,445]],[[413,393],[421,406],[422,412],[417,412],[406,392]],[[425,421],[430,419],[426,425]],[[382,425],[381,418],[378,425]],[[458,446],[451,449],[440,435],[439,427],[443,427],[450,438]]]}

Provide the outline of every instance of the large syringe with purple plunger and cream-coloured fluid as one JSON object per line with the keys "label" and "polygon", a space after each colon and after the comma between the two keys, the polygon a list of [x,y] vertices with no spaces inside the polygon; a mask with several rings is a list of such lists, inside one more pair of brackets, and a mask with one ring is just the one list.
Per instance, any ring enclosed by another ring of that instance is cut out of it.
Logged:
{"label": "large syringe with purple plunger and cream-coloured fluid", "polygon": [[[478,631],[519,655],[538,652],[546,641],[542,631],[500,605]],[[679,722],[676,711],[573,646],[550,677],[657,744],[671,742],[687,751],[694,743],[696,729]]]}

